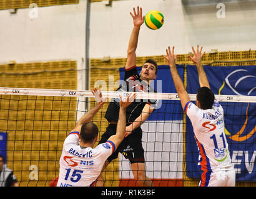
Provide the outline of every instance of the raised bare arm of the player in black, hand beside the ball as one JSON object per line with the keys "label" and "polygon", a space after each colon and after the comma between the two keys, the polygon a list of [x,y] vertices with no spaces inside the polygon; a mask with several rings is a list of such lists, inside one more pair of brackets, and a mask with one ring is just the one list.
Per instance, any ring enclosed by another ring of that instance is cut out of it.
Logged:
{"label": "raised bare arm of the player in black, hand beside the ball", "polygon": [[134,67],[136,64],[136,49],[137,49],[137,44],[138,44],[138,39],[139,39],[139,30],[140,30],[140,25],[144,23],[144,18],[145,16],[142,16],[142,8],[137,7],[137,12],[135,11],[134,7],[134,14],[130,12],[130,16],[132,16],[132,20],[134,23],[134,27],[132,29],[132,33],[130,34],[130,40],[129,40],[129,45],[127,49],[127,62],[126,62],[126,70],[128,70],[131,67]]}

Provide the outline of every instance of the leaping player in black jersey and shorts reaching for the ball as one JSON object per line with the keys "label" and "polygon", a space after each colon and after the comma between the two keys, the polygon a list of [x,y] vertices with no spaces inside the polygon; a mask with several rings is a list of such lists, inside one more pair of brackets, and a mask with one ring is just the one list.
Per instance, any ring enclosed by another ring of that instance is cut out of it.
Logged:
{"label": "leaping player in black jersey and shorts reaching for the ball", "polygon": [[[130,35],[129,46],[127,50],[127,62],[125,67],[124,82],[118,88],[117,91],[135,91],[135,92],[155,92],[151,88],[150,81],[154,80],[157,76],[157,63],[154,60],[147,60],[140,74],[137,72],[136,68],[136,53],[140,25],[144,23],[144,17],[142,16],[142,8],[137,7],[137,12],[135,8],[134,13],[130,12],[132,16],[134,27]],[[126,109],[126,136],[124,141],[120,144],[119,148],[114,154],[112,154],[106,161],[106,164],[102,171],[106,169],[107,165],[114,159],[118,157],[120,152],[126,159],[130,160],[130,166],[132,173],[134,174],[134,179],[136,180],[136,185],[140,186],[152,186],[152,181],[145,175],[145,159],[144,159],[144,149],[142,147],[142,129],[140,125],[147,120],[149,115],[157,107],[157,100],[138,100],[136,99],[132,104],[130,104]],[[102,135],[101,141],[106,142],[107,139],[116,134],[116,126],[119,114],[119,99],[112,99],[111,103],[106,111],[105,118],[109,121],[109,126],[106,132]],[[104,179],[102,175],[99,176],[96,186],[103,186]]]}

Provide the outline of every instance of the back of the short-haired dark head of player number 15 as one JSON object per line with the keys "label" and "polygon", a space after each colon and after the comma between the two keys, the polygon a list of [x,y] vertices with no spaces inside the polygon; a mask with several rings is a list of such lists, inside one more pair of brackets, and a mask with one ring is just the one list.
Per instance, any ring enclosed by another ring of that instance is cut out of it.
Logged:
{"label": "back of the short-haired dark head of player number 15", "polygon": [[99,129],[94,123],[86,123],[82,125],[80,137],[84,142],[93,142],[98,136]]}

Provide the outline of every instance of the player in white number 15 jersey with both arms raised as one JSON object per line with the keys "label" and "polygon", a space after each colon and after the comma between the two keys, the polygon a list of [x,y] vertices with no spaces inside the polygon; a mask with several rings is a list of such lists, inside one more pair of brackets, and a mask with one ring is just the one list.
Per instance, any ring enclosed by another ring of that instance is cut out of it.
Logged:
{"label": "player in white number 15 jersey with both arms raised", "polygon": [[[120,101],[117,132],[114,136],[94,147],[98,137],[96,124],[90,121],[101,109],[104,100],[101,91],[92,91],[99,102],[88,111],[76,124],[64,141],[61,159],[59,160],[59,179],[57,187],[89,187],[94,186],[107,157],[115,152],[126,132],[126,108],[134,100],[135,95]],[[80,140],[79,140],[80,139]]]}

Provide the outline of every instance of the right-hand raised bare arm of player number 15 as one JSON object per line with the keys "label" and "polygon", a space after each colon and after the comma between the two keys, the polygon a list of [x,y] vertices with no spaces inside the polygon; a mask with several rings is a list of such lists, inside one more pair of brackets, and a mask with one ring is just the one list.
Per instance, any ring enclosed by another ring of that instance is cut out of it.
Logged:
{"label": "right-hand raised bare arm of player number 15", "polygon": [[124,139],[124,134],[126,133],[126,108],[127,106],[129,106],[132,101],[134,101],[135,99],[135,94],[132,95],[130,94],[126,101],[120,101],[120,109],[119,109],[119,118],[117,121],[117,130],[116,130],[116,134],[109,137],[109,141],[114,142],[116,149],[119,146],[119,144],[122,142],[122,140]]}

